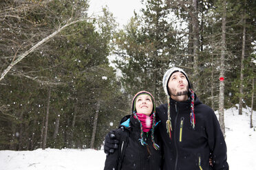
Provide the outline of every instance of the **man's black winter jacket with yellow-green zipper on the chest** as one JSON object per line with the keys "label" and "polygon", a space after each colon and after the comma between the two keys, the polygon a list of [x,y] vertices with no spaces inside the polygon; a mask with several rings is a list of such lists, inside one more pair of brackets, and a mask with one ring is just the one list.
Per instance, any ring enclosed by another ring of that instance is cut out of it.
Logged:
{"label": "man's black winter jacket with yellow-green zipper on the chest", "polygon": [[[163,169],[228,169],[226,143],[213,110],[195,95],[195,129],[191,126],[191,101],[170,102],[171,138],[167,134],[167,104],[156,108],[159,132],[164,149]],[[209,158],[213,158],[213,167]]]}

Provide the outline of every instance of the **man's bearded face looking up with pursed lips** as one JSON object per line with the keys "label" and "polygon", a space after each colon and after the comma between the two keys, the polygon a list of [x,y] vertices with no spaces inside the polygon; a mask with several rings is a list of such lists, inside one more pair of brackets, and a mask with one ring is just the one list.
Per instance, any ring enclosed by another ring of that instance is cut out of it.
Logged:
{"label": "man's bearded face looking up with pursed lips", "polygon": [[169,93],[171,97],[187,95],[189,90],[189,82],[186,76],[181,72],[175,72],[171,75],[168,82]]}

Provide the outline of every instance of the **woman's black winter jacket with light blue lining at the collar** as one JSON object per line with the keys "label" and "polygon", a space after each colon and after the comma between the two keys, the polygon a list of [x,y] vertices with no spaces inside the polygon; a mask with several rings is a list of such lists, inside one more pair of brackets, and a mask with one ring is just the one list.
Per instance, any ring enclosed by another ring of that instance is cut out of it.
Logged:
{"label": "woman's black winter jacket with light blue lining at the collar", "polygon": [[[122,118],[121,123],[127,121],[130,119],[129,127],[125,125],[120,125],[118,130],[116,130],[116,138],[120,141],[120,138],[122,138],[123,135],[125,135],[125,132],[129,132],[129,140],[127,143],[127,147],[122,148],[122,150],[125,150],[125,156],[122,161],[122,170],[158,170],[160,169],[161,165],[161,151],[156,150],[153,148],[152,142],[151,142],[151,131],[148,132],[149,134],[145,137],[147,138],[146,143],[148,145],[142,146],[140,144],[140,123],[137,119],[134,119],[131,115],[128,115],[124,118]],[[159,132],[158,132],[158,126],[156,125],[155,129],[155,140],[158,145],[160,145],[159,142]],[[107,156],[107,159],[105,160],[105,170],[113,170],[118,169],[118,159],[120,154],[120,149],[122,146],[122,143],[119,143],[118,145],[118,151],[115,151],[114,154],[109,154]],[[161,147],[161,146],[160,146]]]}

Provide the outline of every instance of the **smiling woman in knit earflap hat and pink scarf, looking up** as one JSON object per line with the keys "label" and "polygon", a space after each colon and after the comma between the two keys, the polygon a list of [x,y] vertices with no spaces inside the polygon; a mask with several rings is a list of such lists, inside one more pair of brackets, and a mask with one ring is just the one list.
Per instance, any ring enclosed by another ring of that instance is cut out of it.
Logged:
{"label": "smiling woman in knit earflap hat and pink scarf, looking up", "polygon": [[156,105],[151,93],[140,91],[134,96],[131,114],[122,118],[116,130],[118,151],[107,155],[105,170],[160,169],[161,152],[156,123]]}

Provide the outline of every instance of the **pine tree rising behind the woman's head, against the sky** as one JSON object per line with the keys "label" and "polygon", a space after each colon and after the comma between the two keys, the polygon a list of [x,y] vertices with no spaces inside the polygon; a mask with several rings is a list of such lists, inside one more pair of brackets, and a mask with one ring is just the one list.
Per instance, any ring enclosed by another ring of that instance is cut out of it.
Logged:
{"label": "pine tree rising behind the woman's head, against the sky", "polygon": [[[130,23],[116,36],[125,92],[133,96],[139,90],[149,90],[162,102],[162,75],[169,64],[178,64],[178,40],[169,20],[169,10],[162,1],[143,1],[142,14],[135,14]],[[175,59],[178,60],[175,60]],[[164,99],[165,100],[165,99]]]}

